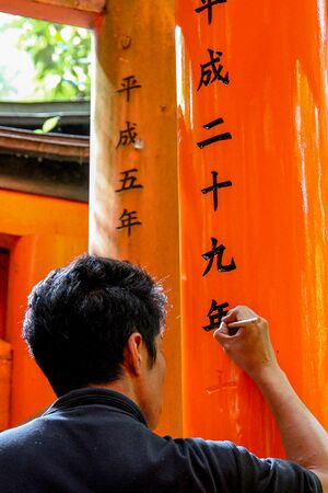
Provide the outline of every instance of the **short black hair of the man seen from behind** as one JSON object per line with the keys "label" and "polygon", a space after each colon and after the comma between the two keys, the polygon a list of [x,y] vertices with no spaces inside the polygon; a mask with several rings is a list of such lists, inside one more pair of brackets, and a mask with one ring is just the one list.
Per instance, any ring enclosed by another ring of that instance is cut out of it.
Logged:
{"label": "short black hair of the man seen from behind", "polygon": [[152,366],[165,306],[161,284],[141,267],[84,254],[33,288],[23,337],[56,394],[62,395],[117,380],[133,332],[142,335]]}

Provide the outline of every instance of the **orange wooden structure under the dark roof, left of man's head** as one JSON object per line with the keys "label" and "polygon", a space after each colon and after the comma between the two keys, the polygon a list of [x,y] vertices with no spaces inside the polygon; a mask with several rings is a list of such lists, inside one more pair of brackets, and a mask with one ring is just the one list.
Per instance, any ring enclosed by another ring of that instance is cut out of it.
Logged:
{"label": "orange wooden structure under the dark roof, left of man's head", "polygon": [[[37,414],[55,399],[22,340],[22,321],[33,286],[52,268],[87,251],[87,214],[86,204],[0,191],[0,248],[9,251],[7,317],[1,336],[12,348],[11,426]],[[0,366],[1,419],[7,402],[7,357]]]}

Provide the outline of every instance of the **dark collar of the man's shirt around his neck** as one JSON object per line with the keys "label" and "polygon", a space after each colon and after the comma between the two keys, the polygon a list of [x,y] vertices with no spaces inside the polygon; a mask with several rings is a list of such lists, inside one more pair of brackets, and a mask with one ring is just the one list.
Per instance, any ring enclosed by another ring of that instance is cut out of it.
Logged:
{"label": "dark collar of the man's shirt around his neck", "polygon": [[131,401],[131,399],[120,392],[116,392],[115,390],[98,387],[87,387],[66,393],[57,399],[57,401],[55,401],[43,415],[46,416],[47,414],[51,414],[57,411],[81,408],[90,404],[107,405],[108,408],[116,408],[125,411],[136,420],[140,421],[140,423],[148,426],[142,412],[138,405]]}

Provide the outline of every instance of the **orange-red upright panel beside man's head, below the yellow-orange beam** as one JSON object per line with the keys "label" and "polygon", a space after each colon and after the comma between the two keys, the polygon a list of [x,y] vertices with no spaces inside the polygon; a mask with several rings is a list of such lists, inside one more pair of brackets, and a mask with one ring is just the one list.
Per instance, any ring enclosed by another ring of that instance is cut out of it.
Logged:
{"label": "orange-red upright panel beside man's head, below the yellow-orange beam", "polygon": [[52,268],[66,265],[86,248],[86,236],[31,234],[17,240],[11,252],[7,333],[13,348],[11,425],[37,414],[56,399],[22,340],[27,296]]}

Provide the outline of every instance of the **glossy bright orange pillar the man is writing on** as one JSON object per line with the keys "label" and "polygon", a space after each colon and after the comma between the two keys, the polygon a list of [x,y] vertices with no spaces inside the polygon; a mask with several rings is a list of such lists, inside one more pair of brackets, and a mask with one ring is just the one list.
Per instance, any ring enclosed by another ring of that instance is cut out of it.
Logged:
{"label": "glossy bright orange pillar the man is writing on", "polygon": [[[266,317],[282,367],[328,425],[326,3],[227,0],[211,24],[207,9],[196,12],[204,3],[177,1],[185,432],[277,456],[262,398],[202,326],[212,299]],[[208,49],[221,53],[230,83],[197,90]],[[226,131],[232,139],[198,148]],[[201,193],[212,171],[232,182],[216,211]],[[214,259],[203,276],[212,237],[236,270],[218,272]]]}

